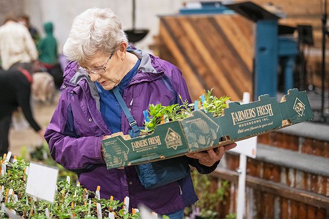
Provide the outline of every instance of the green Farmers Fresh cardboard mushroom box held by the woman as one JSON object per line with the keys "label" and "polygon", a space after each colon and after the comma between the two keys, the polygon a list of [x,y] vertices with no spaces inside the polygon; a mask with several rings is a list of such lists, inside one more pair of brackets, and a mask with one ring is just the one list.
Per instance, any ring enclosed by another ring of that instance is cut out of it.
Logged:
{"label": "green Farmers Fresh cardboard mushroom box held by the woman", "polygon": [[111,169],[204,151],[312,118],[306,92],[293,89],[280,103],[269,95],[249,104],[231,102],[222,116],[198,110],[189,118],[157,125],[150,135],[130,139],[115,134],[102,145]]}

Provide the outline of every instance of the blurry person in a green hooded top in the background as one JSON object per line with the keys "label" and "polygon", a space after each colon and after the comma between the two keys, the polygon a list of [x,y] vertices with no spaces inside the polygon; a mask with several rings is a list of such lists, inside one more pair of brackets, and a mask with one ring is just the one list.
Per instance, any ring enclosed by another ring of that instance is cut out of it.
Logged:
{"label": "blurry person in a green hooded top in the background", "polygon": [[57,88],[63,83],[63,72],[58,63],[57,41],[53,35],[53,23],[44,24],[46,36],[37,43],[39,53],[39,64],[47,68],[47,71],[54,77]]}

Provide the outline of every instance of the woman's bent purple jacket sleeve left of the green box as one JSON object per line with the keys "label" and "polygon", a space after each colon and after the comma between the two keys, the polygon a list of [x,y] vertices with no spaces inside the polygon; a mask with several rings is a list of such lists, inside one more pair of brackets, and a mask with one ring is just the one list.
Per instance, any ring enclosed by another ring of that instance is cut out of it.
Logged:
{"label": "woman's bent purple jacket sleeve left of the green box", "polygon": [[105,164],[102,159],[102,136],[78,137],[66,129],[69,110],[69,94],[62,92],[58,106],[45,132],[50,154],[66,169],[83,172],[97,164]]}

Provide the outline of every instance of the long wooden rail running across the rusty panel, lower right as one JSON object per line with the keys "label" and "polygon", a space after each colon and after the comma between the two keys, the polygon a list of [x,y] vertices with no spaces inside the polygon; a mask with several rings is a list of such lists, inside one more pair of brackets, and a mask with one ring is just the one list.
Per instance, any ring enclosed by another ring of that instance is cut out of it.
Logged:
{"label": "long wooden rail running across the rusty panel, lower right", "polygon": [[[211,175],[230,182],[238,182],[238,173],[232,170],[217,168]],[[275,196],[329,210],[329,197],[326,196],[251,176],[246,176],[246,186],[256,189],[257,191],[274,194]]]}

